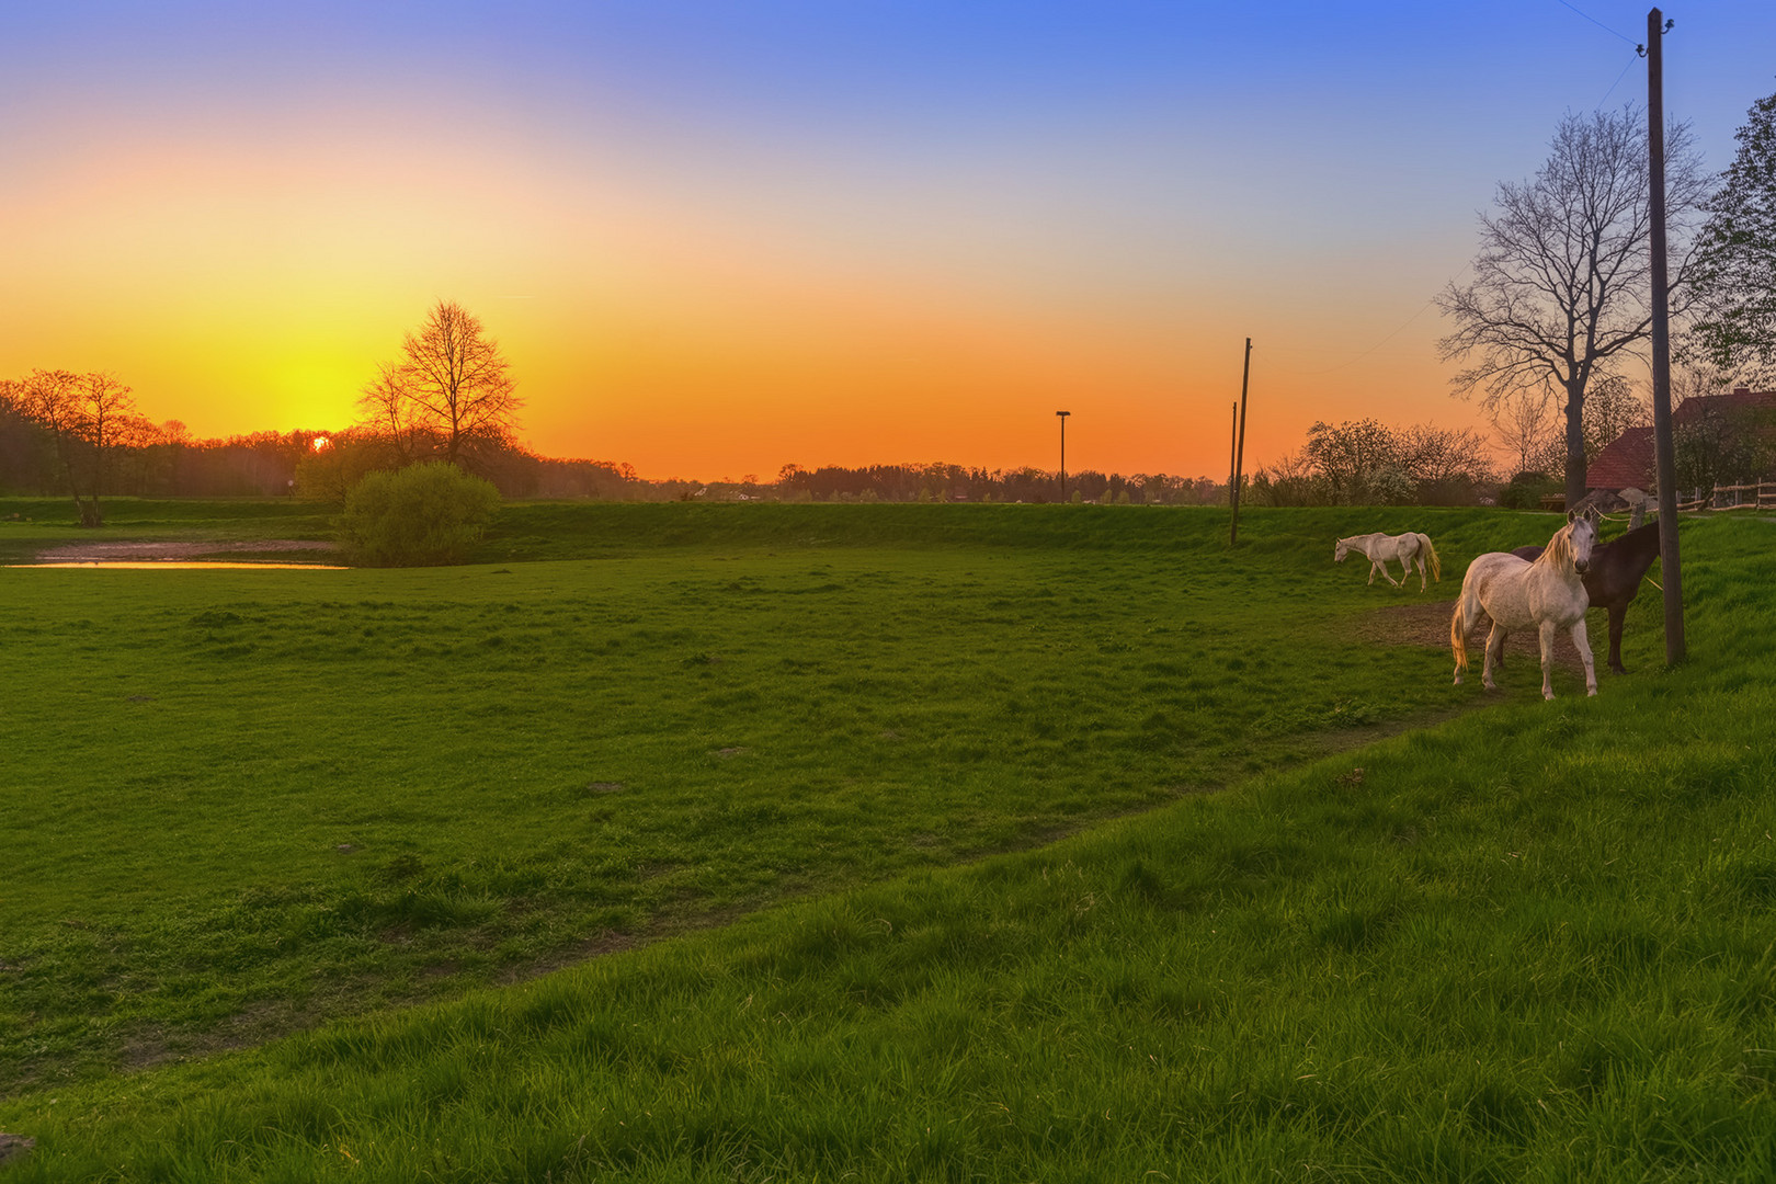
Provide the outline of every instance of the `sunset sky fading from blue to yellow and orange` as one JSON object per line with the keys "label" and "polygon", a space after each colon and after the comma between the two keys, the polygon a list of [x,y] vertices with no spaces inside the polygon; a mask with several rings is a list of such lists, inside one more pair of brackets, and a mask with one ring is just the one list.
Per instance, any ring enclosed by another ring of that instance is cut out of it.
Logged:
{"label": "sunset sky fading from blue to yellow and orange", "polygon": [[[337,428],[428,305],[522,435],[643,476],[1225,474],[1314,419],[1478,424],[1428,300],[1645,4],[0,5],[0,376],[197,435]],[[1724,167],[1776,4],[1671,5]]]}

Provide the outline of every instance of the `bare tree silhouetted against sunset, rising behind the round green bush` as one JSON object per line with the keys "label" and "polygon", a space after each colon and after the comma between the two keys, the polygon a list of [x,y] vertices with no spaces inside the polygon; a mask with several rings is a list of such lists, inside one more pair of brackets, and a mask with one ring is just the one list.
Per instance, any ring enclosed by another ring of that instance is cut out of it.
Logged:
{"label": "bare tree silhouetted against sunset, rising behind the round green bush", "polygon": [[499,343],[455,300],[439,300],[419,332],[401,341],[401,360],[364,389],[362,426],[408,463],[426,453],[465,467],[471,453],[510,444],[524,401]]}

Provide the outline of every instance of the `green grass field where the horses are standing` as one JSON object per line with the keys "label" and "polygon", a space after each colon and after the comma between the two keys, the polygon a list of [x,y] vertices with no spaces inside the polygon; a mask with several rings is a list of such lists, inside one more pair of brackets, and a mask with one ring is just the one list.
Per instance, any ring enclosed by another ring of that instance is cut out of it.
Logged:
{"label": "green grass field where the horses are standing", "polygon": [[5,572],[7,1175],[1764,1179],[1776,525],[1685,524],[1689,666],[1652,595],[1542,703],[1366,641],[1430,596],[1330,540],[1453,596],[1556,520],[1398,513]]}

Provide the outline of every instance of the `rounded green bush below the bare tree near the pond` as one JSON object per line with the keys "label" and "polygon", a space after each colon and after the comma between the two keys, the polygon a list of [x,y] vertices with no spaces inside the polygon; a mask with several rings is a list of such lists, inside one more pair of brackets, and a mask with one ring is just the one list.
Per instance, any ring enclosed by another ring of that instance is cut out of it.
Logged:
{"label": "rounded green bush below the bare tree near the pond", "polygon": [[462,563],[497,508],[499,490],[453,465],[371,472],[345,497],[339,540],[377,568]]}

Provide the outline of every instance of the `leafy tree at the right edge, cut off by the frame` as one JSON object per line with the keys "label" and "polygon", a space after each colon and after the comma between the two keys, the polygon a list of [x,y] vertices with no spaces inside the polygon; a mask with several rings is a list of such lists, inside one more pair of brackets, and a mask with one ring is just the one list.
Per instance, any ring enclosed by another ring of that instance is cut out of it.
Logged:
{"label": "leafy tree at the right edge, cut off by the frame", "polygon": [[1698,316],[1684,353],[1744,382],[1776,380],[1776,94],[1735,133],[1739,153],[1698,238]]}

